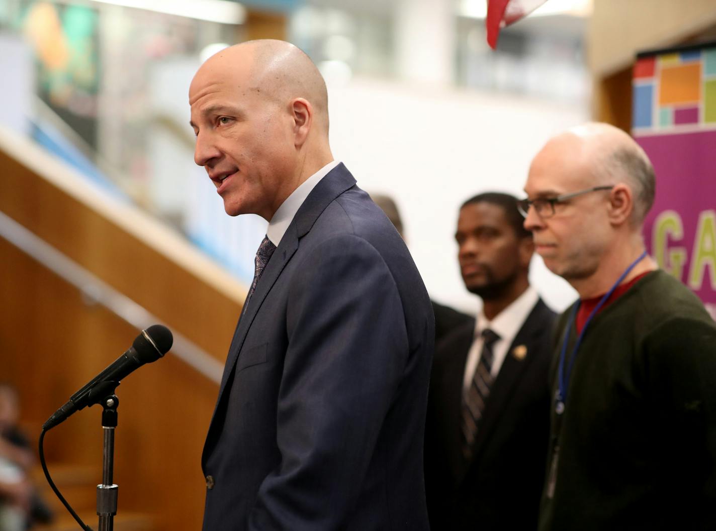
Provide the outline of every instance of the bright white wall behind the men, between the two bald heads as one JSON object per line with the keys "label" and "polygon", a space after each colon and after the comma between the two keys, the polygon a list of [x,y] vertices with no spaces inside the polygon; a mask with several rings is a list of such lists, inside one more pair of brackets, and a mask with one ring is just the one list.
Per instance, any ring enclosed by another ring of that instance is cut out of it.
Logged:
{"label": "bright white wall behind the men, between the two bald heads", "polygon": [[[329,84],[331,145],[369,192],[398,203],[430,295],[470,313],[453,239],[460,204],[496,190],[523,197],[533,155],[548,137],[588,119],[586,105],[354,79]],[[536,257],[532,283],[561,311],[576,293]]]}

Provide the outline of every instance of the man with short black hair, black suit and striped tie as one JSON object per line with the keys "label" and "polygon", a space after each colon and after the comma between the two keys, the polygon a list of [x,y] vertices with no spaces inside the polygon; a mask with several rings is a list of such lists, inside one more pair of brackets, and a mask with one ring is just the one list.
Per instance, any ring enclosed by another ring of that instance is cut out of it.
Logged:
{"label": "man with short black hair, black suit and striped tie", "polygon": [[435,352],[425,434],[430,526],[533,530],[555,314],[529,285],[534,246],[516,198],[484,193],[466,201],[455,239],[465,287],[483,309]]}

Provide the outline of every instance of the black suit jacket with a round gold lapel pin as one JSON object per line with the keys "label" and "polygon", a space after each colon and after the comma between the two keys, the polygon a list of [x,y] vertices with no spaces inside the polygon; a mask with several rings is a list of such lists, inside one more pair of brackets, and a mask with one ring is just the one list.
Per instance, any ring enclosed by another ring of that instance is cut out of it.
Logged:
{"label": "black suit jacket with a round gold lapel pin", "polygon": [[[536,529],[549,437],[555,317],[540,300],[518,331],[490,388],[469,463],[461,450],[460,414],[475,321],[437,346],[425,435],[432,531]],[[523,359],[513,354],[518,346],[526,347]]]}

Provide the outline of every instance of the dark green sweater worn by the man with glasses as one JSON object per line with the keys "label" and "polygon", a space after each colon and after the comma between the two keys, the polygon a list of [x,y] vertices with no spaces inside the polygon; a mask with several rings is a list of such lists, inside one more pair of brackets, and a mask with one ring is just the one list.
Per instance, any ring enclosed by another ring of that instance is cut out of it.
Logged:
{"label": "dark green sweater worn by the man with glasses", "polygon": [[716,323],[682,283],[654,271],[594,317],[555,421],[540,531],[716,530]]}

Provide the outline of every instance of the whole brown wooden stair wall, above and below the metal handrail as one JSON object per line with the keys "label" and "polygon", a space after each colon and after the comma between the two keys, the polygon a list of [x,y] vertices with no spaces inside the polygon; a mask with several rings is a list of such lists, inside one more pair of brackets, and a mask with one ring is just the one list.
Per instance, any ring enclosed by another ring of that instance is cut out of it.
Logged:
{"label": "whole brown wooden stair wall, above and below the metal handrail", "polygon": [[[78,189],[83,180],[36,147],[19,154],[4,140],[0,132],[0,210],[223,362],[245,288],[137,210]],[[37,439],[42,422],[139,331],[1,237],[0,301],[0,380],[18,387]],[[120,513],[148,512],[158,531],[200,528],[200,455],[217,392],[171,352],[122,381]],[[83,409],[45,439],[52,462],[97,467],[91,492],[101,481],[101,411]]]}

